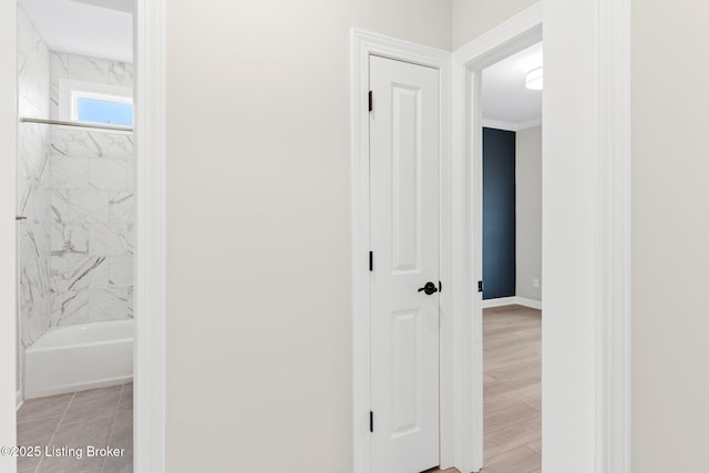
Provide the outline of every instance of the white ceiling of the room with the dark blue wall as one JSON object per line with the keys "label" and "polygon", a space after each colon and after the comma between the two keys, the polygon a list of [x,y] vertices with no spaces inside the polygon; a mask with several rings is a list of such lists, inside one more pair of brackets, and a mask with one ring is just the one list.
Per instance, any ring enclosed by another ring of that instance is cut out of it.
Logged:
{"label": "white ceiling of the room with the dark blue wall", "polygon": [[524,86],[533,69],[542,66],[542,43],[483,70],[483,125],[518,131],[542,124],[542,91]]}

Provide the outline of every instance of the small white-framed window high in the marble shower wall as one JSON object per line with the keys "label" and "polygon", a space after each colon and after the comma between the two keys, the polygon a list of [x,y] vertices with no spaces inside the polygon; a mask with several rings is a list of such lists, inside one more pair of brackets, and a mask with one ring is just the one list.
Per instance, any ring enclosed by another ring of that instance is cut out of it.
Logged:
{"label": "small white-framed window high in the marble shower wall", "polygon": [[133,90],[60,79],[60,120],[133,126]]}

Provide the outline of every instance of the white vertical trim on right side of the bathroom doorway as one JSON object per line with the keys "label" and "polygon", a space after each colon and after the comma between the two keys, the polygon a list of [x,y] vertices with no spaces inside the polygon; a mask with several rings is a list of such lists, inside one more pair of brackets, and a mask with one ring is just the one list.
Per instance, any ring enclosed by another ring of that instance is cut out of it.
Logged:
{"label": "white vertical trim on right side of the bathroom doorway", "polygon": [[164,473],[165,457],[165,0],[135,0],[134,467]]}

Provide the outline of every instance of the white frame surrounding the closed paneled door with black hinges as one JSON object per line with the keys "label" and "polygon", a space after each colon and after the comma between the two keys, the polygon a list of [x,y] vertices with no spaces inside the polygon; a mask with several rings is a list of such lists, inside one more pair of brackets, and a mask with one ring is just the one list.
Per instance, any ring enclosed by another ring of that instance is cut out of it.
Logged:
{"label": "white frame surrounding the closed paneled door with black hinges", "polygon": [[[440,189],[441,203],[449,197],[443,189],[450,188],[450,59],[448,51],[422,47],[380,34],[361,30],[351,31],[351,192],[352,192],[352,471],[368,473],[371,469],[371,442],[369,432],[370,411],[370,286],[369,286],[369,56],[407,61],[427,65],[439,70],[440,96]],[[376,97],[374,97],[376,100]],[[441,205],[441,237],[449,228],[450,217],[445,213],[446,206]],[[445,245],[441,240],[441,281],[443,290],[440,294],[441,320],[441,463],[452,466],[452,362],[451,346],[445,340],[451,338],[451,295],[448,289],[450,266],[448,265]],[[444,381],[445,380],[445,381]]]}

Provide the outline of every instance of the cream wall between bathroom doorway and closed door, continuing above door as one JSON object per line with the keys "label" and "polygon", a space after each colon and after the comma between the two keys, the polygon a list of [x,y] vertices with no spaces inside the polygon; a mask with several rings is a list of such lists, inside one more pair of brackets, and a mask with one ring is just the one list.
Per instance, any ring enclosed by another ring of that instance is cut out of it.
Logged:
{"label": "cream wall between bathroom doorway and closed door, continuing above door", "polygon": [[168,7],[167,471],[349,472],[349,30],[450,1]]}

